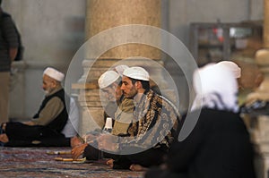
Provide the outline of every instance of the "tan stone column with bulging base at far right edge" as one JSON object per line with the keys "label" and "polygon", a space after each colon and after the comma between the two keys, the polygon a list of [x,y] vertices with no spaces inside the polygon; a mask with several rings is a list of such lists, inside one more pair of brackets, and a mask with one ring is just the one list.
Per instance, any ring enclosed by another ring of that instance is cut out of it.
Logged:
{"label": "tan stone column with bulging base at far right edge", "polygon": [[[269,102],[269,0],[264,0],[264,48],[256,51],[256,64],[264,74],[264,81],[255,92],[247,96],[247,102]],[[268,111],[269,112],[269,111]],[[249,131],[256,145],[256,173],[258,178],[269,174],[269,115],[250,116]]]}

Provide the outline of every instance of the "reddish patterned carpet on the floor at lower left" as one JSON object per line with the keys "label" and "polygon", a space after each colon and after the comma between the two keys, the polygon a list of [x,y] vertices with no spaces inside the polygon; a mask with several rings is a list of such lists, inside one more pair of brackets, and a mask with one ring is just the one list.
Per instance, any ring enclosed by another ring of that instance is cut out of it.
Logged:
{"label": "reddish patterned carpet on the floor at lower left", "polygon": [[117,177],[142,178],[143,172],[112,170],[104,161],[64,162],[51,155],[54,151],[70,151],[70,148],[0,148],[0,177]]}

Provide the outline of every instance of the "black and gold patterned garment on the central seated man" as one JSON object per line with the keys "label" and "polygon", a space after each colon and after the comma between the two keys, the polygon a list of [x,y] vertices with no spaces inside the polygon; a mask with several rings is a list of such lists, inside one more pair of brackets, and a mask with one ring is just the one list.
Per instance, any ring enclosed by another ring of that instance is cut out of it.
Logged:
{"label": "black and gold patterned garment on the central seated man", "polygon": [[135,131],[136,138],[132,141],[135,147],[170,148],[178,138],[179,114],[175,107],[152,90],[145,92],[134,106],[136,122],[129,130]]}

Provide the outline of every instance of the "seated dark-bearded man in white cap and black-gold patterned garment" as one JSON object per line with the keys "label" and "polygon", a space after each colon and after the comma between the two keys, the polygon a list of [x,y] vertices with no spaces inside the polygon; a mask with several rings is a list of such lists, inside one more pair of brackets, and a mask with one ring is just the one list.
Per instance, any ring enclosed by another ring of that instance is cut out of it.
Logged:
{"label": "seated dark-bearded man in white cap and black-gold patterned garment", "polygon": [[134,131],[134,136],[104,135],[99,140],[101,149],[118,155],[108,161],[113,168],[139,171],[160,165],[178,138],[178,111],[168,99],[150,89],[149,81],[149,73],[142,67],[123,72],[121,89],[125,97],[134,99],[134,120],[128,129]]}

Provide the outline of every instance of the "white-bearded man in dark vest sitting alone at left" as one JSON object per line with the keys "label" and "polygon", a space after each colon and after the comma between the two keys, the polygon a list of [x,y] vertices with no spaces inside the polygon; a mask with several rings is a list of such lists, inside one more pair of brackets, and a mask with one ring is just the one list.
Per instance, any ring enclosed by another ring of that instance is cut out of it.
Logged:
{"label": "white-bearded man in dark vest sitting alone at left", "polygon": [[[5,146],[69,146],[70,139],[61,133],[68,119],[65,90],[61,86],[65,75],[48,67],[43,73],[44,98],[39,111],[30,122],[2,123],[0,141]],[[69,106],[69,105],[68,105]]]}

